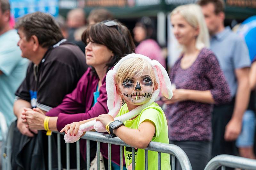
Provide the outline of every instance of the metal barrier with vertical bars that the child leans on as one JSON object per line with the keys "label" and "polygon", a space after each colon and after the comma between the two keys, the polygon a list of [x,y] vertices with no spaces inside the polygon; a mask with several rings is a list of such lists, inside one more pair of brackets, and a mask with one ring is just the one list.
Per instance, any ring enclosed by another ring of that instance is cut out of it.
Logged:
{"label": "metal barrier with vertical bars that the child leans on", "polygon": [[[60,136],[61,134],[57,132],[57,154],[58,154],[58,170],[61,169],[61,160],[60,160]],[[62,133],[64,134],[64,133]],[[82,137],[86,139],[86,165],[87,170],[90,168],[90,140],[97,142],[97,169],[100,170],[100,142],[108,143],[108,170],[111,170],[111,144],[119,145],[120,146],[120,170],[123,169],[123,146],[129,146],[125,144],[120,138],[106,138],[107,134],[98,133],[98,132],[86,132],[86,134]],[[63,140],[63,139],[61,139]],[[51,143],[51,136],[48,136],[48,143]],[[51,146],[51,145],[48,145]],[[131,147],[131,146],[129,146]],[[49,170],[52,169],[52,149],[51,147],[48,148],[49,154]],[[191,164],[189,162],[188,156],[186,153],[176,145],[172,144],[164,144],[159,142],[150,142],[148,147],[145,149],[145,170],[148,170],[148,151],[156,151],[158,152],[158,162],[161,162],[161,153],[169,153],[171,154],[172,163],[171,169],[175,170],[175,157],[179,160],[181,168],[183,170],[192,170]],[[80,151],[79,151],[79,141],[76,142],[76,163],[77,169],[80,169]],[[135,169],[134,164],[135,159],[135,148],[132,147],[132,169]],[[69,143],[67,143],[67,170],[70,169],[70,160],[69,160]],[[158,163],[158,170],[161,169],[161,163]]]}

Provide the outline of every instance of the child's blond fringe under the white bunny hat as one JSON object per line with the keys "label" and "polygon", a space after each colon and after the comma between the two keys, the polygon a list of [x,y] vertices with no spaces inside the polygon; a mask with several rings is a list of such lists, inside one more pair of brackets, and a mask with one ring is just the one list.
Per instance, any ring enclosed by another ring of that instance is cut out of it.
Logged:
{"label": "child's blond fringe under the white bunny hat", "polygon": [[114,79],[117,86],[117,91],[120,92],[119,89],[124,80],[131,79],[132,77],[140,77],[144,70],[148,70],[149,76],[151,77],[153,84],[155,84],[156,76],[153,67],[147,60],[139,57],[133,57],[121,63],[117,69]]}

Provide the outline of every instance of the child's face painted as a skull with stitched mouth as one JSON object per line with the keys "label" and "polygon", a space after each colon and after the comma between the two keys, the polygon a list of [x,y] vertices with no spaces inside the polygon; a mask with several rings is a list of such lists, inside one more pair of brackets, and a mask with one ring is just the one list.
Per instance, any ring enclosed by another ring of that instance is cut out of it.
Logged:
{"label": "child's face painted as a skull with stitched mouth", "polygon": [[141,105],[147,103],[153,93],[154,86],[149,72],[143,71],[141,77],[132,77],[123,81],[120,92],[124,101],[132,105]]}

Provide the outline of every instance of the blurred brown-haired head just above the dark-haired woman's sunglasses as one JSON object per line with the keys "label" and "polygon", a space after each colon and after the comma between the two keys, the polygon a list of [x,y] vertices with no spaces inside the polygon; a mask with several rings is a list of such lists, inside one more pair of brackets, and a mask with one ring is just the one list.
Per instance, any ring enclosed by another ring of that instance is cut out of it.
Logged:
{"label": "blurred brown-haired head just above the dark-haired woman's sunglasses", "polygon": [[87,20],[89,25],[95,24],[97,22],[105,21],[105,20],[113,20],[114,16],[112,13],[106,9],[94,9],[90,12]]}

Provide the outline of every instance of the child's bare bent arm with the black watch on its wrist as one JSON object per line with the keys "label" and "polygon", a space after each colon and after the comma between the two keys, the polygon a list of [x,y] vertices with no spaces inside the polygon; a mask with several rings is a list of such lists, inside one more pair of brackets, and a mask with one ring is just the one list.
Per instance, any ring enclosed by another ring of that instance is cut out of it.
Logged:
{"label": "child's bare bent arm with the black watch on its wrist", "polygon": [[[110,121],[114,121],[111,115],[100,115],[96,121],[100,121],[104,126]],[[155,134],[155,126],[151,121],[144,121],[139,125],[138,129],[130,129],[121,126],[114,130],[116,136],[122,139],[126,144],[135,148],[146,148]]]}

